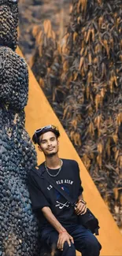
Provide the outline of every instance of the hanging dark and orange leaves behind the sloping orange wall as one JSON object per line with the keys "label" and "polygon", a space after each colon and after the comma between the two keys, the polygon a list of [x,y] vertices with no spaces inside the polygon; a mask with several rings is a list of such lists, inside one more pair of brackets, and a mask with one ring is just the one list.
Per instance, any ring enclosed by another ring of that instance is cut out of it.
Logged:
{"label": "hanging dark and orange leaves behind the sloping orange wall", "polygon": [[47,20],[36,42],[32,69],[121,224],[122,3],[73,0],[62,45]]}

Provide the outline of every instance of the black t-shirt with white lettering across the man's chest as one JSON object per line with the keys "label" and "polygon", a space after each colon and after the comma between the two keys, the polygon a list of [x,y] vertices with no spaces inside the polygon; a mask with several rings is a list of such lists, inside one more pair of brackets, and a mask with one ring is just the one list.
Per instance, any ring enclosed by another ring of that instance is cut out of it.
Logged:
{"label": "black t-shirt with white lettering across the man's chest", "polygon": [[[83,192],[79,178],[79,165],[74,160],[62,159],[61,172],[57,176],[50,176],[70,197],[77,201]],[[56,174],[59,169],[48,169],[51,174]],[[43,177],[46,172],[44,162],[39,169],[31,171],[28,175],[28,189],[31,196],[33,210],[37,213],[39,224],[48,224],[41,209],[49,206],[54,216],[61,224],[76,223],[77,215],[67,200]],[[46,172],[46,175],[49,175]]]}

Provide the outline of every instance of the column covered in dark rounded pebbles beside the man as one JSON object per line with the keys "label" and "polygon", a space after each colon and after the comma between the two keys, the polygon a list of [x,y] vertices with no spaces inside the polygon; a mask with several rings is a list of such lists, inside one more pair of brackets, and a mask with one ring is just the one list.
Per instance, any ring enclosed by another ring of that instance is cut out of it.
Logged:
{"label": "column covered in dark rounded pebbles beside the man", "polygon": [[27,187],[36,154],[24,129],[28,67],[14,51],[17,20],[17,1],[0,1],[0,255],[36,256],[38,224]]}

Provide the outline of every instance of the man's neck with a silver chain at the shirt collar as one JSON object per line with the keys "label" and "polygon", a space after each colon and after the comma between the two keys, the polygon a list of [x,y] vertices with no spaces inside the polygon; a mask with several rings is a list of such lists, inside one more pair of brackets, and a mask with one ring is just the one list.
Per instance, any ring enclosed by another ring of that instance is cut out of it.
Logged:
{"label": "man's neck with a silver chain at the shirt collar", "polygon": [[50,158],[46,156],[46,166],[50,169],[58,169],[61,167],[61,160],[58,155],[54,155]]}

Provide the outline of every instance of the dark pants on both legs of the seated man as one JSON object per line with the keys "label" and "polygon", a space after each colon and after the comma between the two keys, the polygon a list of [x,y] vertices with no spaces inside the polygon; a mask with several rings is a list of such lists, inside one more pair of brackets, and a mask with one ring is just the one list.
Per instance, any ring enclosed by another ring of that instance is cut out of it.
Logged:
{"label": "dark pants on both legs of the seated man", "polygon": [[101,244],[90,231],[79,224],[64,225],[64,228],[73,237],[74,244],[69,247],[65,242],[63,251],[57,249],[58,232],[53,227],[46,227],[42,232],[41,242],[46,243],[51,251],[55,251],[54,255],[76,256],[76,250],[82,253],[82,256],[99,255]]}

